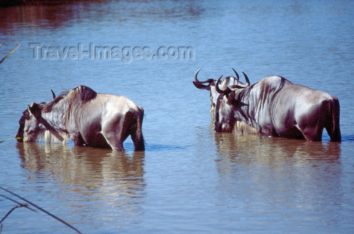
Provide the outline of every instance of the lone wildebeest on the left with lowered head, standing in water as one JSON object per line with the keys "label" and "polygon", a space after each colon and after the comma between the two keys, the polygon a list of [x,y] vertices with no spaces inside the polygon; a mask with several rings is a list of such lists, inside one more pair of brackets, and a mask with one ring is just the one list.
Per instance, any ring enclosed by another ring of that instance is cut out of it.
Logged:
{"label": "lone wildebeest on the left with lowered head, standing in water", "polygon": [[143,108],[124,96],[78,86],[58,97],[53,93],[49,103],[32,102],[23,112],[16,138],[20,142],[70,138],[79,146],[124,150],[123,141],[130,135],[135,150],[145,150],[143,115]]}

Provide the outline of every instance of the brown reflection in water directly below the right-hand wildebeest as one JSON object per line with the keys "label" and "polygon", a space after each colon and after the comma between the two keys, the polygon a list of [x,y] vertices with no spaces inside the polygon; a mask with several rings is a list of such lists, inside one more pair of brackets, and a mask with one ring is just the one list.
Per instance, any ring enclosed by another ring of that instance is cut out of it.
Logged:
{"label": "brown reflection in water directly below the right-hand wildebeest", "polygon": [[[245,160],[289,159],[335,161],[340,156],[340,144],[336,142],[308,142],[296,139],[267,137],[264,135],[242,135],[215,133],[219,156]],[[251,147],[250,147],[251,146]]]}

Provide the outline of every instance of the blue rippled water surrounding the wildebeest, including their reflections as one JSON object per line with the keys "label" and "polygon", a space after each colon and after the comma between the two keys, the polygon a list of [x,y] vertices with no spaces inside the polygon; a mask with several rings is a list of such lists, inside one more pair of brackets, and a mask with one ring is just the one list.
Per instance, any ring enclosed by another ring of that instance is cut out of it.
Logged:
{"label": "blue rippled water surrounding the wildebeest, including their reflections", "polygon": [[[353,5],[75,1],[0,9],[0,57],[21,44],[0,64],[0,140],[16,135],[32,101],[78,85],[142,106],[146,140],[144,153],[130,139],[124,153],[6,141],[0,186],[83,233],[353,233]],[[329,142],[326,132],[322,143],[215,133],[209,94],[192,84],[201,67],[200,79],[234,68],[251,83],[279,75],[336,96],[343,141]],[[0,218],[14,206],[0,197]],[[2,224],[4,233],[74,233],[25,208]]]}

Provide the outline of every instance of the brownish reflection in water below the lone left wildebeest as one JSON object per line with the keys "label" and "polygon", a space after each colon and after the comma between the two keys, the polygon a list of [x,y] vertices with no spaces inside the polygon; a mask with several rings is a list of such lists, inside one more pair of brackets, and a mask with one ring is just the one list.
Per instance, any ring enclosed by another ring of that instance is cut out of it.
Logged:
{"label": "brownish reflection in water below the lone left wildebeest", "polygon": [[[100,191],[103,194],[97,195],[112,201],[136,199],[145,186],[144,151],[128,154],[109,149],[35,143],[18,143],[17,148],[21,167],[29,171],[30,179],[52,180],[41,176],[41,173],[49,172],[62,184],[71,185],[66,188],[75,192]],[[54,183],[54,186],[58,185]]]}

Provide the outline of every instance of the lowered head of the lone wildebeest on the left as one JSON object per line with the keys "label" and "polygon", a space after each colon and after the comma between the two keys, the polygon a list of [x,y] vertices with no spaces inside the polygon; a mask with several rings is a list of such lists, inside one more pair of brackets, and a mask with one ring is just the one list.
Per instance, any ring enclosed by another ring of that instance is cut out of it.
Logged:
{"label": "lowered head of the lone wildebeest on the left", "polygon": [[[52,93],[54,99],[55,94],[53,91]],[[40,102],[39,104],[32,102],[28,108],[23,111],[19,121],[20,127],[16,134],[18,142],[36,141],[38,136],[46,130],[56,136],[59,140],[63,140],[59,133],[42,118],[42,109],[46,104],[46,102]]]}

